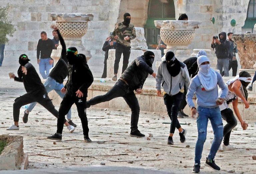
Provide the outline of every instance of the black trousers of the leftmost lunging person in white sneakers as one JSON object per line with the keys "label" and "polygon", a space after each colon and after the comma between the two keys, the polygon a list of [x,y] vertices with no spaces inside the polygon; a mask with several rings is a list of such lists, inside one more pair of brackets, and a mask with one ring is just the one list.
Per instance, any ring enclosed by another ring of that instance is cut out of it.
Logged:
{"label": "black trousers of the leftmost lunging person in white sneakers", "polygon": [[[33,92],[28,92],[14,100],[13,119],[15,122],[19,121],[20,107],[25,104],[33,102],[38,102],[39,104],[44,106],[48,111],[50,111],[56,118],[58,118],[58,111],[54,108],[54,105],[52,104],[51,99],[48,97],[46,91],[42,92],[41,90],[36,90]],[[63,121],[65,123],[66,119],[64,118]]]}

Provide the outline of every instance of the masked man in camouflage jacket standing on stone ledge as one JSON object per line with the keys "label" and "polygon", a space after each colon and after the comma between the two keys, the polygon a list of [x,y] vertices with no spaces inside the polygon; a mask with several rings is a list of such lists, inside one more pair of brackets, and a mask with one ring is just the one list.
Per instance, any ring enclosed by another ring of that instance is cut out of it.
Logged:
{"label": "masked man in camouflage jacket standing on stone ledge", "polygon": [[114,77],[113,81],[117,81],[118,66],[123,53],[123,68],[122,73],[127,68],[129,63],[129,57],[131,52],[131,40],[136,38],[135,28],[133,24],[130,24],[131,15],[129,13],[124,14],[124,21],[116,24],[115,30],[112,32],[106,41],[113,39],[116,35],[117,46],[116,46],[116,59],[114,63]]}

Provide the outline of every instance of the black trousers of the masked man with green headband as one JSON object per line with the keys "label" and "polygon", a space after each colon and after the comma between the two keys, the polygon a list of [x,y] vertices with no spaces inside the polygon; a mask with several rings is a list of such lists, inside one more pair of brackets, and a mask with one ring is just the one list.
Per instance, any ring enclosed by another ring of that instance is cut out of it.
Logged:
{"label": "black trousers of the masked man with green headband", "polygon": [[88,135],[89,128],[88,128],[88,121],[86,117],[86,97],[77,97],[77,96],[71,96],[66,94],[61,103],[59,108],[59,115],[57,120],[57,133],[62,134],[63,130],[63,120],[65,120],[65,115],[70,110],[71,106],[73,104],[76,104],[78,116],[81,119],[82,128],[83,128],[83,134],[84,136]]}

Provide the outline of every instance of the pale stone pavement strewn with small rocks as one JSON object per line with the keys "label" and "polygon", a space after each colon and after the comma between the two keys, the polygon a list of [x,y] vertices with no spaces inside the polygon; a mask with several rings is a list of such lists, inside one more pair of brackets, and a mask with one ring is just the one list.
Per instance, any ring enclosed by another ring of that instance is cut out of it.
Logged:
{"label": "pale stone pavement strewn with small rocks", "polygon": [[[35,61],[32,60],[31,63],[37,69]],[[25,93],[22,83],[13,82],[8,77],[9,72],[16,74],[17,69],[17,59],[5,57],[4,64],[0,67],[0,123],[2,123],[0,130],[2,134],[24,137],[24,152],[29,155],[29,170],[23,173],[149,174],[151,172],[157,174],[162,171],[162,173],[183,174],[192,172],[197,126],[196,120],[191,117],[179,119],[181,123],[190,122],[191,124],[182,125],[187,129],[185,143],[179,141],[178,132],[175,131],[174,145],[167,144],[170,125],[163,124],[163,122],[170,122],[167,114],[141,112],[138,127],[146,137],[136,138],[129,136],[130,111],[118,108],[116,110],[87,109],[89,136],[92,143],[83,141],[82,126],[75,105],[72,106],[72,119],[78,126],[73,133],[69,133],[64,127],[62,141],[46,139],[47,136],[56,132],[56,118],[39,104],[29,114],[26,124],[22,122],[24,109],[21,109],[20,130],[7,131],[6,128],[13,124],[13,101]],[[57,110],[58,108],[59,106],[56,105]],[[236,130],[231,133],[230,143],[235,145],[236,149],[216,154],[216,163],[221,167],[219,172],[203,165],[211,146],[209,141],[213,138],[211,125],[208,124],[200,173],[228,173],[233,172],[232,170],[234,173],[256,173],[256,161],[252,160],[252,155],[256,155],[256,124],[253,121],[247,122],[249,124],[247,130],[242,130],[238,123],[237,129],[235,128]],[[225,121],[223,123],[226,124]],[[101,163],[105,163],[105,166]],[[37,170],[31,171],[32,169]],[[21,171],[16,172],[21,173]],[[1,171],[0,173],[15,172]]]}

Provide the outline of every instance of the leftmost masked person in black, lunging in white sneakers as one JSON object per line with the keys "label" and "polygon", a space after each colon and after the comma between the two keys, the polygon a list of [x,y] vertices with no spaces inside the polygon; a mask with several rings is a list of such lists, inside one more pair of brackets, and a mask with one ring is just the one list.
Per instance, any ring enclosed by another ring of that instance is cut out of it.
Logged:
{"label": "leftmost masked person in black, lunging in white sneakers", "polygon": [[[7,128],[6,130],[19,130],[19,114],[20,107],[29,104],[32,102],[38,102],[42,106],[44,106],[47,110],[49,110],[55,117],[58,117],[58,111],[54,108],[54,105],[51,102],[51,99],[47,95],[47,91],[44,85],[41,82],[35,68],[32,64],[28,63],[30,60],[28,56],[25,54],[20,55],[19,64],[20,67],[18,69],[18,77],[15,75],[10,75],[10,78],[13,78],[15,81],[23,82],[24,87],[27,91],[26,94],[16,98],[13,103],[13,119],[14,124]],[[27,120],[23,119],[23,122],[26,123]],[[62,120],[66,126],[69,126],[67,120],[65,118]],[[70,130],[72,133],[75,129]]]}

